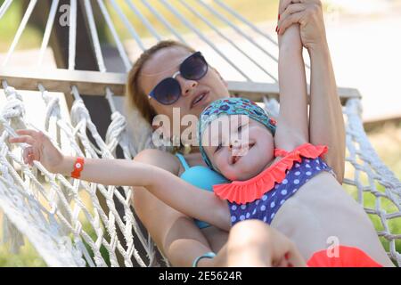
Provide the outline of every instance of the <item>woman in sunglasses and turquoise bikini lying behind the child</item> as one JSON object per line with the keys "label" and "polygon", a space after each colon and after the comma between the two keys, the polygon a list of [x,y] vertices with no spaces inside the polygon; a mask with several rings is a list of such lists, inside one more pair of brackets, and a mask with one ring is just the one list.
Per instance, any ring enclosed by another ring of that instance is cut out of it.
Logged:
{"label": "woman in sunglasses and turquoise bikini lying behind the child", "polygon": [[[325,37],[322,5],[317,0],[282,0],[279,14],[278,34],[282,35],[292,24],[299,24],[302,44],[311,58],[310,142],[329,146],[326,161],[342,183],[344,121]],[[167,115],[172,120],[173,108],[180,108],[181,116],[198,116],[210,102],[229,96],[225,81],[216,69],[209,68],[197,80],[177,74],[180,64],[194,52],[185,45],[161,42],[135,62],[127,83],[128,98],[150,123],[157,114]],[[181,87],[181,96],[168,105],[155,100],[158,93],[155,87],[160,87],[160,81],[166,77],[175,77]],[[201,154],[193,147],[192,153],[184,159],[164,151],[145,150],[135,161],[164,168],[174,175],[184,173],[185,163],[190,167],[204,165]],[[194,260],[199,261],[199,266],[241,265],[244,256],[252,265],[268,265],[265,253],[271,232],[263,223],[241,222],[230,233],[212,226],[203,227],[138,187],[135,188],[134,208],[172,265],[190,266]],[[217,252],[217,256],[197,259],[210,251]]]}

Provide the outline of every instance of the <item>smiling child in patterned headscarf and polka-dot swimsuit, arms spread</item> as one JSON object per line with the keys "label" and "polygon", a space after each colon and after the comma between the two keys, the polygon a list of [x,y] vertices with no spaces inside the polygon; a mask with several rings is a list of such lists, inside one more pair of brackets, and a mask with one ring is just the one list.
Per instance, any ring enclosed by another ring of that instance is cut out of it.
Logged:
{"label": "smiling child in patterned headscarf and polka-dot swimsuit, arms spread", "polygon": [[[289,28],[280,40],[301,47],[299,28]],[[279,78],[277,128],[264,110],[245,99],[213,102],[203,111],[199,127],[202,157],[233,181],[215,185],[214,192],[201,191],[168,171],[138,162],[63,156],[44,134],[32,130],[18,131],[21,136],[10,142],[30,145],[24,151],[29,165],[38,160],[53,173],[107,185],[143,186],[170,207],[225,231],[244,219],[271,224],[295,243],[310,266],[391,266],[364,209],[331,175],[323,160],[327,148],[307,143],[301,53],[281,51]],[[210,145],[208,139],[215,134],[208,134],[221,123],[229,127],[217,132],[221,143]],[[245,136],[238,133],[248,134],[248,140],[238,140]],[[237,141],[231,142],[232,138]],[[328,240],[333,240],[332,255],[325,249]]]}

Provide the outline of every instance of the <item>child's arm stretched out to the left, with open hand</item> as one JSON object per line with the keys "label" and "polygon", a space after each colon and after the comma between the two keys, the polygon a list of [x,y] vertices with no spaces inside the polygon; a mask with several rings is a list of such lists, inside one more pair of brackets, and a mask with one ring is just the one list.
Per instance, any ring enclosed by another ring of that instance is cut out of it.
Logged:
{"label": "child's arm stretched out to the left, with open hand", "polygon": [[[18,130],[20,137],[10,142],[25,142],[24,162],[34,160],[52,173],[70,175],[77,158],[63,156],[41,132]],[[167,170],[127,159],[85,159],[79,179],[105,185],[143,186],[168,206],[228,231],[230,213],[225,200],[213,192],[202,191]]]}

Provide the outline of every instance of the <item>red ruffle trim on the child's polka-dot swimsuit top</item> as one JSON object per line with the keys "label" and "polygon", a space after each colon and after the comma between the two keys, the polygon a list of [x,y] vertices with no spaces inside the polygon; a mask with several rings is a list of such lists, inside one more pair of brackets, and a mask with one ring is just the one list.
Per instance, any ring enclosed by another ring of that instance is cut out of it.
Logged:
{"label": "red ruffle trim on the child's polka-dot swimsuit top", "polygon": [[286,171],[292,168],[294,161],[300,162],[301,157],[315,159],[322,157],[328,148],[324,145],[304,143],[291,152],[280,149],[274,150],[274,156],[283,157],[260,174],[247,181],[217,184],[213,191],[220,199],[227,199],[237,204],[245,204],[260,199],[267,191],[274,188],[274,183],[282,183]]}

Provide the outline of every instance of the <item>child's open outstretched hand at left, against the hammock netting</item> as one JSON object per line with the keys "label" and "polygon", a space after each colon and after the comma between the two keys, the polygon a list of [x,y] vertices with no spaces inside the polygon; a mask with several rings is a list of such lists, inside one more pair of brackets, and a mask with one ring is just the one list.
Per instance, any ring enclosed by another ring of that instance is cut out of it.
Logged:
{"label": "child's open outstretched hand at left, against the hammock netting", "polygon": [[34,130],[17,130],[19,137],[9,139],[9,142],[25,142],[29,144],[23,151],[24,163],[28,163],[30,167],[33,161],[39,161],[47,170],[57,173],[57,168],[61,166],[63,155],[50,142],[50,139],[42,132]]}

